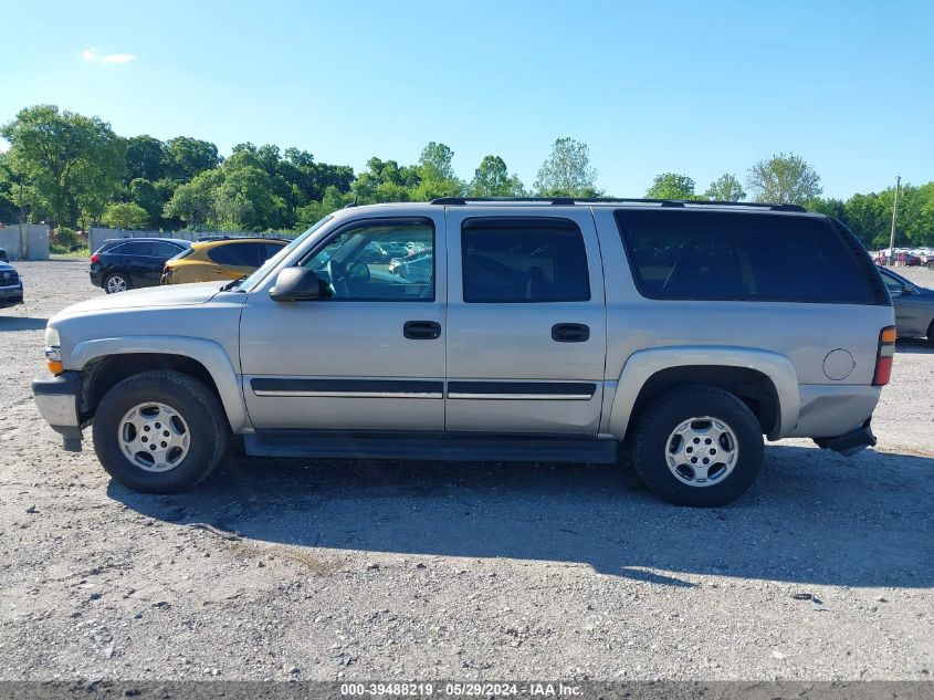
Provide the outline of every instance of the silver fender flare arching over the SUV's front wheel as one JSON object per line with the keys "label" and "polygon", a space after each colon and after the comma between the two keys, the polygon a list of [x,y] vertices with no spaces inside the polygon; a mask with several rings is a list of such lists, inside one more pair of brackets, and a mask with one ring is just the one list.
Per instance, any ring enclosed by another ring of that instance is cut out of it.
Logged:
{"label": "silver fender flare arching over the SUV's front wheel", "polygon": [[67,358],[67,368],[82,369],[98,357],[130,353],[182,355],[201,363],[218,387],[231,429],[240,432],[250,427],[237,372],[223,347],[213,341],[181,335],[130,335],[84,341],[75,345]]}

